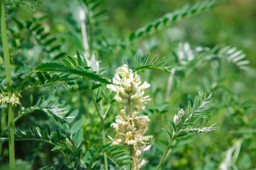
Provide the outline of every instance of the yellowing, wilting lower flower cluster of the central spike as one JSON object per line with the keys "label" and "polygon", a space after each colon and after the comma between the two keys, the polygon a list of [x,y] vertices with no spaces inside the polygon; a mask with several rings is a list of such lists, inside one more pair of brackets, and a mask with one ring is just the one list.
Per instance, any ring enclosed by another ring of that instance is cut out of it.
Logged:
{"label": "yellowing, wilting lower flower cluster of the central spike", "polygon": [[140,169],[146,164],[144,159],[140,160],[140,155],[142,151],[148,151],[150,149],[150,144],[148,141],[153,136],[143,136],[143,134],[148,129],[147,122],[150,121],[148,116],[137,116],[139,113],[139,108],[137,112],[133,112],[131,115],[125,114],[125,109],[120,110],[120,115],[116,116],[115,123],[111,124],[111,127],[115,128],[115,139],[113,144],[128,144],[133,145],[134,155],[133,155],[133,169]]}

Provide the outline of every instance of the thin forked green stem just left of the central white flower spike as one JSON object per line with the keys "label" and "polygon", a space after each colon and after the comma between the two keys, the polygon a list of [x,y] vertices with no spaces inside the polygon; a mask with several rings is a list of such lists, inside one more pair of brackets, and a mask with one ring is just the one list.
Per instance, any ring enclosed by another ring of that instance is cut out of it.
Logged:
{"label": "thin forked green stem just left of the central white flower spike", "polygon": [[[98,116],[100,116],[100,122],[101,122],[101,128],[102,128],[102,130],[101,130],[102,143],[106,144],[105,116],[104,116],[104,112],[103,112],[102,101],[100,103],[100,110],[99,110],[98,105],[96,103],[96,100],[94,99],[94,95],[93,95],[92,90],[91,90],[90,81],[88,79],[86,79],[86,82],[87,82],[87,85],[88,85],[90,96],[92,97],[92,101],[93,101],[94,106],[96,108],[96,111],[98,113]],[[105,167],[105,170],[108,170],[108,158],[106,157],[105,152],[104,152],[104,167]]]}

